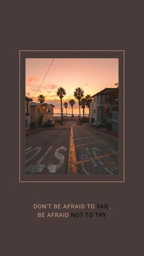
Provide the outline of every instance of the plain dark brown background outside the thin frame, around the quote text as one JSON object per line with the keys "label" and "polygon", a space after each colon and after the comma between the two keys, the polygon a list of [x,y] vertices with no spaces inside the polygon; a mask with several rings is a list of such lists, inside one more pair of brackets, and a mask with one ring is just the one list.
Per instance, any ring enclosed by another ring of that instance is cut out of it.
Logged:
{"label": "plain dark brown background outside the thin frame, around the quote text", "polygon": [[[141,255],[142,4],[2,1],[2,255]],[[19,50],[125,50],[126,183],[19,183]],[[107,219],[35,218],[35,202],[107,202]]]}

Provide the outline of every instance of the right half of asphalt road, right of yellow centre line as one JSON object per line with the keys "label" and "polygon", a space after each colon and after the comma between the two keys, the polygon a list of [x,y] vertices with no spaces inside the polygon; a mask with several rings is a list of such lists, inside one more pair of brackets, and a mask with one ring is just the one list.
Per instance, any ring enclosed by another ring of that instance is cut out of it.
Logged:
{"label": "right half of asphalt road, right of yellow centre line", "polygon": [[87,125],[73,134],[78,174],[118,174],[118,137]]}

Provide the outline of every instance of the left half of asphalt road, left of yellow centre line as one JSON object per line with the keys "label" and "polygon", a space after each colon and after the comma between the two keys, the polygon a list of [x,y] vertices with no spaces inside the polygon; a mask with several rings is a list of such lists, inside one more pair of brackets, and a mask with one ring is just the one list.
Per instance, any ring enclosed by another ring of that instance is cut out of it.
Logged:
{"label": "left half of asphalt road, left of yellow centre line", "polygon": [[71,126],[54,128],[26,136],[26,172],[66,174]]}

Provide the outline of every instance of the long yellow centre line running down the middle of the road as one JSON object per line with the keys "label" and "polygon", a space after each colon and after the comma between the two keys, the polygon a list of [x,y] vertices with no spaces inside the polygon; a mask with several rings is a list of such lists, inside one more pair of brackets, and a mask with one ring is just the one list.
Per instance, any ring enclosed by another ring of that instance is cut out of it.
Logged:
{"label": "long yellow centre line running down the middle of the road", "polygon": [[76,151],[74,148],[73,126],[71,126],[70,145],[68,151],[68,173],[77,174]]}

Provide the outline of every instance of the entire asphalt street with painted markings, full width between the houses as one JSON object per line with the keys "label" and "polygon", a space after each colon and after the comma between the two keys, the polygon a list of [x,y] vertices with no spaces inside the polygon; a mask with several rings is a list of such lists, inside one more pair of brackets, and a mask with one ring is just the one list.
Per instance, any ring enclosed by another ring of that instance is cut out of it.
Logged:
{"label": "entire asphalt street with painted markings, full width between the houses", "polygon": [[118,137],[74,122],[31,134],[26,136],[26,172],[118,174]]}

